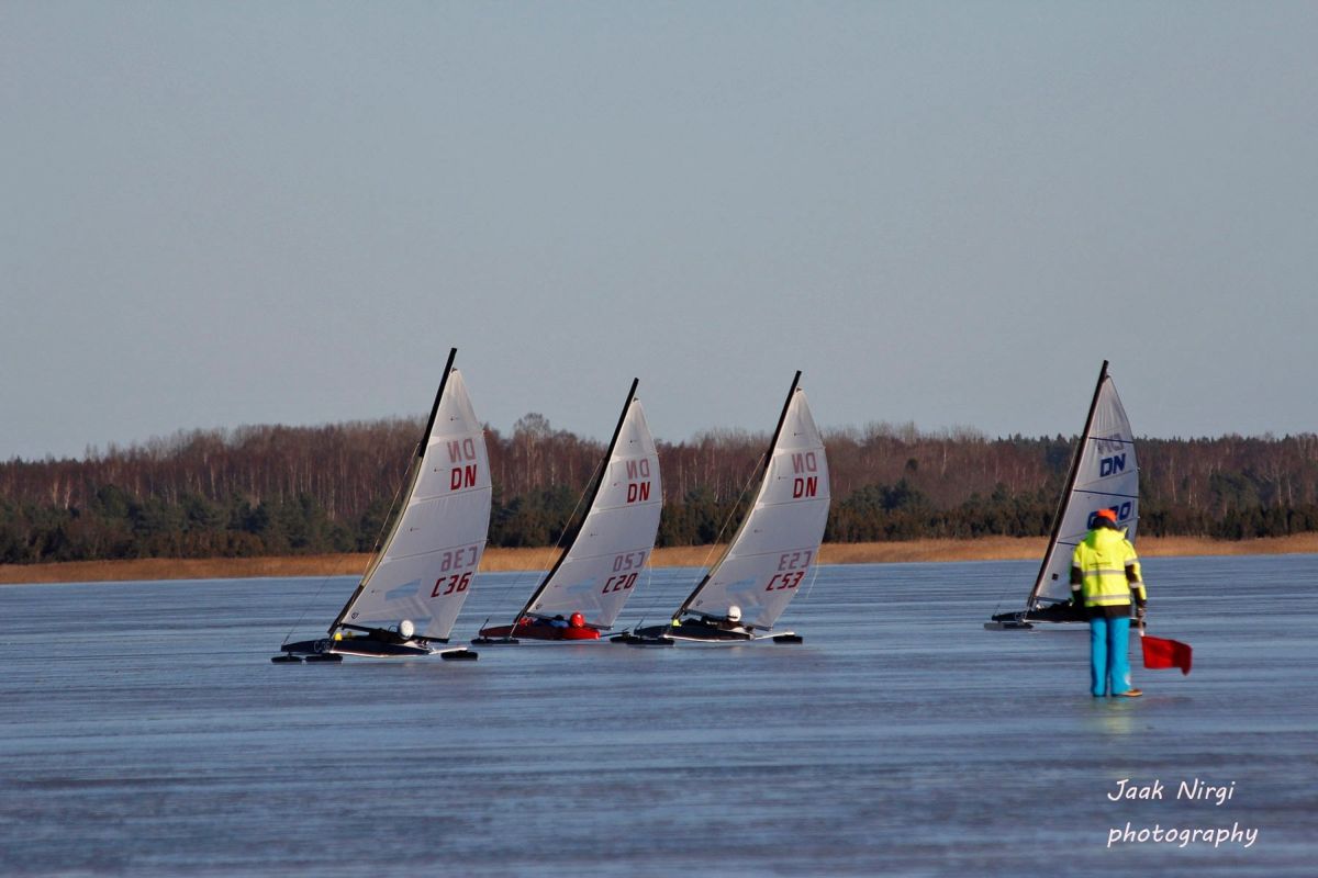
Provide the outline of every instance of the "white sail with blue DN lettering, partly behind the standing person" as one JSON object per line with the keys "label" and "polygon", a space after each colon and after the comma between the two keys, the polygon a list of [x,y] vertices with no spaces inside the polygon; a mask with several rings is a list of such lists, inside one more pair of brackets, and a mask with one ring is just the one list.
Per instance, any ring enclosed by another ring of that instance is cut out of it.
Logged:
{"label": "white sail with blue DN lettering, partly behind the standing person", "polygon": [[1140,473],[1135,461],[1135,436],[1116,395],[1116,386],[1103,363],[1094,407],[1081,437],[1075,478],[1062,498],[1056,540],[1049,542],[1031,606],[1070,599],[1070,562],[1075,545],[1085,538],[1099,509],[1116,509],[1116,527],[1135,542],[1140,516]]}

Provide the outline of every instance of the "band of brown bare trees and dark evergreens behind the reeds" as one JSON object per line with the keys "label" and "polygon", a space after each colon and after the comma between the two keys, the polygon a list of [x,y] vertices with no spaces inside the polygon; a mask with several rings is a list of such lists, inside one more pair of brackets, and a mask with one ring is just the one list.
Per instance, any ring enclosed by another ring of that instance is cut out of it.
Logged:
{"label": "band of brown bare trees and dark evergreens behind the reeds", "polygon": [[[369,552],[420,420],[191,430],[79,459],[0,462],[0,563]],[[486,428],[490,545],[554,545],[583,515],[602,444],[540,415]],[[825,434],[834,542],[1048,533],[1074,438],[873,424]],[[728,538],[767,434],[659,442],[658,544]],[[1318,436],[1145,438],[1140,532],[1230,540],[1318,530]]]}

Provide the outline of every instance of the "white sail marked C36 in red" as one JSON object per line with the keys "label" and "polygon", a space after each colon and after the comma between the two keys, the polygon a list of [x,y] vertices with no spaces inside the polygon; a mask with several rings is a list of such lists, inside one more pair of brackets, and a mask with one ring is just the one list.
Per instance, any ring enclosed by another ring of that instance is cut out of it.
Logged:
{"label": "white sail marked C36 in red", "polygon": [[398,523],[343,623],[387,629],[407,619],[418,636],[448,637],[485,552],[492,494],[485,433],[455,369]]}

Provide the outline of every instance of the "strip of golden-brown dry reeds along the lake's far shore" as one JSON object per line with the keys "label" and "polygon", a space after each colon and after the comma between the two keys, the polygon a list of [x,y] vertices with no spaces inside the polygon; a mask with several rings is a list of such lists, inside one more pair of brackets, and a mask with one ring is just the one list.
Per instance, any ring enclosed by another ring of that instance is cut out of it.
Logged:
{"label": "strip of golden-brown dry reeds along the lake's far shore", "polygon": [[[981,540],[909,540],[905,542],[826,542],[821,565],[911,563],[949,561],[1031,561],[1043,557],[1044,537],[983,537]],[[655,549],[655,567],[704,567],[722,546]],[[1318,554],[1318,533],[1263,540],[1207,537],[1145,537],[1141,558],[1169,555]],[[548,570],[558,557],[550,546],[485,550],[482,573]],[[0,565],[0,584],[55,582],[137,582],[152,579],[256,579],[265,577],[356,577],[370,559],[365,553],[266,558],[140,558],[132,561],[69,561],[63,563]]]}

